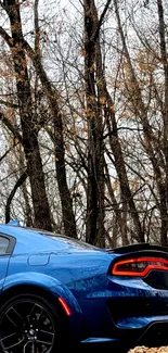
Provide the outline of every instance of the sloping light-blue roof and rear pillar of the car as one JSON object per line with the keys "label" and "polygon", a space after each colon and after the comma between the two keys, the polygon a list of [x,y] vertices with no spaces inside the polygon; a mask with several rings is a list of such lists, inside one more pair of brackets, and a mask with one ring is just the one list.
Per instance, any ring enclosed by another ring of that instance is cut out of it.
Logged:
{"label": "sloping light-blue roof and rear pillar of the car", "polygon": [[93,251],[100,250],[77,239],[50,231],[26,228],[14,225],[0,225],[0,234],[12,236],[16,239],[14,254],[37,253],[43,251]]}

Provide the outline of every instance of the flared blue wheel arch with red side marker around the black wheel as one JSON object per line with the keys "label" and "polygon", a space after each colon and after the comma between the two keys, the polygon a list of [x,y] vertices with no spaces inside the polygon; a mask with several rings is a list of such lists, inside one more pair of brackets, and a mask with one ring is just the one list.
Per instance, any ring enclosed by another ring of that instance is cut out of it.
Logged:
{"label": "flared blue wheel arch with red side marker around the black wheel", "polygon": [[[56,308],[59,308],[64,320],[65,328],[67,329],[66,332],[72,335],[75,340],[78,340],[79,337],[81,337],[83,316],[77,300],[68,288],[66,288],[66,286],[62,286],[62,283],[56,279],[42,274],[31,273],[30,276],[30,273],[25,273],[17,275],[17,277],[9,276],[4,281],[3,290],[0,293],[0,308],[8,300],[12,299],[12,297],[22,293],[39,295],[50,301],[56,306]],[[60,298],[64,299],[64,301],[68,304],[72,315],[67,315],[63,303],[61,303],[59,300]]]}

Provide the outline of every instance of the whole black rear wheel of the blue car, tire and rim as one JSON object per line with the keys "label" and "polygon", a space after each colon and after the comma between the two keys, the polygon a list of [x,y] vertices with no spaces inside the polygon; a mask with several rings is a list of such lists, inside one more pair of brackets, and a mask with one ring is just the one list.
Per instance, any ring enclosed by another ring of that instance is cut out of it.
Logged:
{"label": "whole black rear wheel of the blue car, tire and rim", "polygon": [[59,305],[23,293],[0,310],[0,349],[3,353],[55,353],[64,348],[65,320]]}

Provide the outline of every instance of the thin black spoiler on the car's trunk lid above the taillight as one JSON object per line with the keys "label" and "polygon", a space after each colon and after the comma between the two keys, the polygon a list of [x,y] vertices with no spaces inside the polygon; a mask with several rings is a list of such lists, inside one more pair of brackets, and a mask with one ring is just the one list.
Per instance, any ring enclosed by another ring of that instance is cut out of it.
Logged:
{"label": "thin black spoiler on the car's trunk lid above the taillight", "polygon": [[168,247],[161,247],[156,244],[150,244],[148,242],[141,242],[138,244],[131,244],[115,249],[107,249],[107,252],[115,252],[117,254],[127,254],[132,253],[137,251],[143,251],[143,250],[153,250],[153,251],[161,251],[168,253]]}

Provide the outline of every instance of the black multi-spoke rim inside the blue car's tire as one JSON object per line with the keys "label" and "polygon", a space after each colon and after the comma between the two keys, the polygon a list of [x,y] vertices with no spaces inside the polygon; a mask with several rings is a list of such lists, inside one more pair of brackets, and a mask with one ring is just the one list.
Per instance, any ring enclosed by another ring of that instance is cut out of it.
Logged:
{"label": "black multi-spoke rim inside the blue car's tire", "polygon": [[5,353],[49,353],[55,338],[52,314],[34,300],[8,306],[0,319],[0,344]]}

